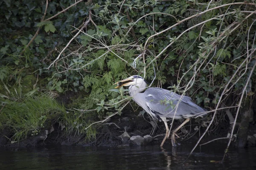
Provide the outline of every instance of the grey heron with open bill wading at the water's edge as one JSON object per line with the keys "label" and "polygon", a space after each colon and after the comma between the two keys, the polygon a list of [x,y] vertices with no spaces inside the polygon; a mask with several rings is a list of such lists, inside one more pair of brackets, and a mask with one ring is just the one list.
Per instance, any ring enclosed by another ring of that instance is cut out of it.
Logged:
{"label": "grey heron with open bill wading at the water's edge", "polygon": [[186,119],[172,132],[172,146],[175,146],[176,132],[189,122],[190,117],[201,116],[206,111],[206,109],[193,103],[188,96],[180,96],[163,88],[147,88],[147,82],[138,75],[131,76],[115,84],[117,84],[116,88],[129,86],[129,94],[133,100],[149,115],[163,120],[166,127],[166,135],[160,146],[163,146],[170,134],[166,118]]}

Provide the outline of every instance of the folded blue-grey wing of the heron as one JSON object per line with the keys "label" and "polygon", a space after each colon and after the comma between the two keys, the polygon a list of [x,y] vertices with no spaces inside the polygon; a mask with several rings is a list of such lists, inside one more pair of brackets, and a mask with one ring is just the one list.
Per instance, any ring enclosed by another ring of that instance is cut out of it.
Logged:
{"label": "folded blue-grey wing of the heron", "polygon": [[[192,102],[188,96],[180,96],[163,88],[148,88],[144,92],[145,102],[150,111],[159,116],[173,118],[195,116],[205,110]],[[180,100],[180,98],[182,98]],[[178,103],[180,100],[180,103]],[[176,113],[175,113],[176,112]]]}

